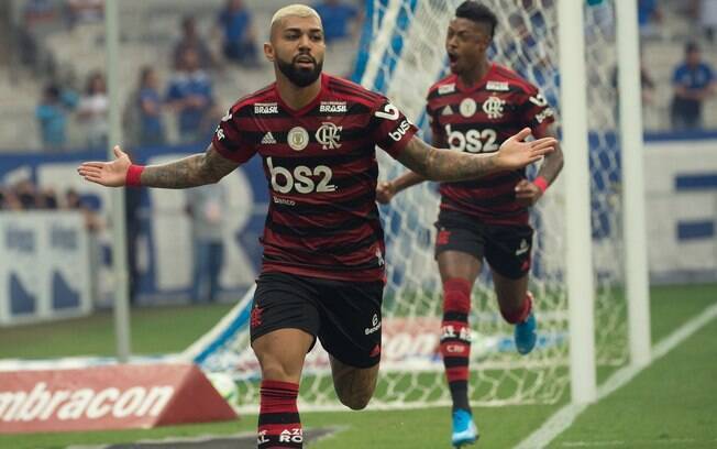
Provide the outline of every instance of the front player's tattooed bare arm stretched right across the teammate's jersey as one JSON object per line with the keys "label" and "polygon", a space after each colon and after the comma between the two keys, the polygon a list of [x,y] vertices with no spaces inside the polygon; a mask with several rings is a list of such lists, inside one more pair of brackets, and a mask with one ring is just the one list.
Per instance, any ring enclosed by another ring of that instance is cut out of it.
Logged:
{"label": "front player's tattooed bare arm stretched right across the teammate's jersey", "polygon": [[525,128],[489,155],[443,151],[413,138],[400,152],[398,161],[431,180],[475,179],[497,172],[522,168],[552,152],[558,143],[553,138],[523,142],[528,135],[530,129]]}

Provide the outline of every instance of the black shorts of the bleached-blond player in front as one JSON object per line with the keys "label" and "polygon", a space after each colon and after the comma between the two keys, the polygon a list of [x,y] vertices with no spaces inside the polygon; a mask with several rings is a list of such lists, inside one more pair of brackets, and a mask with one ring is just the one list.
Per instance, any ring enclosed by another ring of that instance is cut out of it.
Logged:
{"label": "black shorts of the bleached-blond player in front", "polygon": [[[332,281],[288,273],[263,273],[256,281],[252,342],[278,329],[318,337],[340,362],[374,366],[380,360],[383,282]],[[261,311],[257,311],[261,310]]]}

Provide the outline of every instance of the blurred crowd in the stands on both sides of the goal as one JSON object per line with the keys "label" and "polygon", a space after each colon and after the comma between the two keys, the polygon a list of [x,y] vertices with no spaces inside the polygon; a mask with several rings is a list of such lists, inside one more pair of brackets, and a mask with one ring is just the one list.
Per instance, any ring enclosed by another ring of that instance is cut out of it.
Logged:
{"label": "blurred crowd in the stands on both sides of the goal", "polygon": [[[262,44],[286,3],[122,1],[124,143],[206,141],[227,107],[271,79]],[[348,75],[363,1],[315,6],[327,28],[326,68]],[[639,0],[639,8],[647,130],[717,130],[717,0]],[[0,151],[103,147],[103,0],[5,0],[0,21]]]}

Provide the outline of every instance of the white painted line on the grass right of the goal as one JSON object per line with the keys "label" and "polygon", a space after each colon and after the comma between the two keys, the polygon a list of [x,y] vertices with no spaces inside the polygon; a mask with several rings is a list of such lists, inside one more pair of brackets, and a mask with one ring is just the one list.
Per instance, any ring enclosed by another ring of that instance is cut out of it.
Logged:
{"label": "white painted line on the grass right of the goal", "polygon": [[[628,365],[618,370],[604,384],[597,388],[597,401],[615,392],[630,382],[642,370],[650,366],[655,360],[673,350],[697,330],[717,317],[717,304],[707,307],[699,315],[672,332],[652,349],[652,359],[646,365]],[[597,402],[596,401],[596,402]],[[538,430],[532,432],[516,446],[516,449],[538,449],[547,447],[555,437],[572,426],[575,418],[587,408],[589,404],[569,404],[551,416]]]}

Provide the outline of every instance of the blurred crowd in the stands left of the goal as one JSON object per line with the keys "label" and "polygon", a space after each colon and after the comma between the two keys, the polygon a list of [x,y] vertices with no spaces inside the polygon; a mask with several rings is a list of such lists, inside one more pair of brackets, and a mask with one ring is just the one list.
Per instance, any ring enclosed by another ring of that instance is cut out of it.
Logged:
{"label": "blurred crowd in the stands left of the goal", "polygon": [[[206,142],[238,98],[269,83],[262,44],[286,1],[119,3],[123,143]],[[351,72],[363,1],[316,2],[326,68]],[[0,2],[0,151],[104,147],[103,0]]]}

